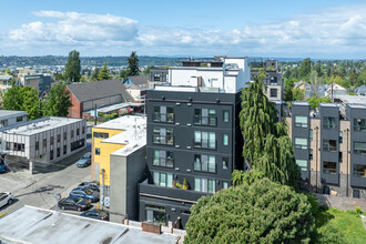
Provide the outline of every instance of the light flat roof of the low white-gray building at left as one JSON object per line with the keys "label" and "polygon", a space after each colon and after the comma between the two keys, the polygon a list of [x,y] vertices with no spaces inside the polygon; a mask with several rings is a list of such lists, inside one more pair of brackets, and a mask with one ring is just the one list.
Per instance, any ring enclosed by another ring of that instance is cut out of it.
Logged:
{"label": "light flat roof of the low white-gray building at left", "polygon": [[61,128],[67,124],[72,124],[82,120],[83,119],[49,116],[49,118],[28,121],[19,125],[11,125],[4,128],[1,132],[8,134],[18,134],[18,135],[32,135],[48,130],[53,130],[55,128]]}

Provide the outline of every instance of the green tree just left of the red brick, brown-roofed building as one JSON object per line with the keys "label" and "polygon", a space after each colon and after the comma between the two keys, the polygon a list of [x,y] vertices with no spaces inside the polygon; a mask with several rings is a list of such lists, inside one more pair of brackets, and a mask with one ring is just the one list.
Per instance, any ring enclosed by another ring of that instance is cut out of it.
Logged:
{"label": "green tree just left of the red brick, brown-roofed building", "polygon": [[67,116],[72,105],[70,101],[70,92],[62,82],[51,88],[50,93],[44,101],[44,115],[47,116]]}

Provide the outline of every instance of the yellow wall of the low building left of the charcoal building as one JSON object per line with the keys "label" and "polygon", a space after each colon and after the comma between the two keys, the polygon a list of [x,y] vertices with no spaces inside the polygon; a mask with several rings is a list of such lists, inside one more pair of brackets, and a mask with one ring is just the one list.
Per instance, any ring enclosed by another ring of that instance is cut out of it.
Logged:
{"label": "yellow wall of the low building left of the charcoal building", "polygon": [[[94,135],[94,132],[101,132],[101,133],[109,133],[109,138],[112,138],[113,135],[120,134],[123,132],[123,130],[113,130],[113,129],[103,129],[103,128],[93,128],[92,134]],[[94,138],[93,136],[93,151],[92,151],[92,161],[93,164],[98,163],[100,171],[104,169],[104,185],[110,185],[110,155],[111,153],[115,152],[119,149],[122,149],[124,144],[118,144],[118,143],[103,143],[102,141],[105,139]],[[100,155],[95,155],[95,149],[100,149]],[[96,175],[95,175],[96,176]],[[102,174],[100,172],[99,181],[102,184]]]}

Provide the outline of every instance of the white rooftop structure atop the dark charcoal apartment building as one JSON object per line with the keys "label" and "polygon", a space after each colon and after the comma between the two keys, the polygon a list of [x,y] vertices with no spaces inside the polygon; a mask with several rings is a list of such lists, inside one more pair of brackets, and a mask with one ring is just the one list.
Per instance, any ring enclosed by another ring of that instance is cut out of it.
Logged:
{"label": "white rooftop structure atop the dark charcoal apartment building", "polygon": [[[192,62],[195,61],[192,60]],[[217,57],[213,62],[216,64],[222,62],[222,67],[218,64],[215,67],[169,68],[170,84],[172,87],[216,88],[220,92],[236,93],[251,80],[251,69],[245,57]],[[160,89],[163,88],[160,87]]]}

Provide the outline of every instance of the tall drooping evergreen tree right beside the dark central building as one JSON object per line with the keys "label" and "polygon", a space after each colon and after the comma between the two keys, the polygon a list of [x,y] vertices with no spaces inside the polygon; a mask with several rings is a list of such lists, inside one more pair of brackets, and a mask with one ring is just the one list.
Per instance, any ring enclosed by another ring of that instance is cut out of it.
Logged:
{"label": "tall drooping evergreen tree right beside the dark central building", "polygon": [[241,129],[243,155],[250,167],[282,184],[296,186],[299,170],[285,121],[277,122],[275,104],[263,93],[265,84],[258,75],[242,91]]}

